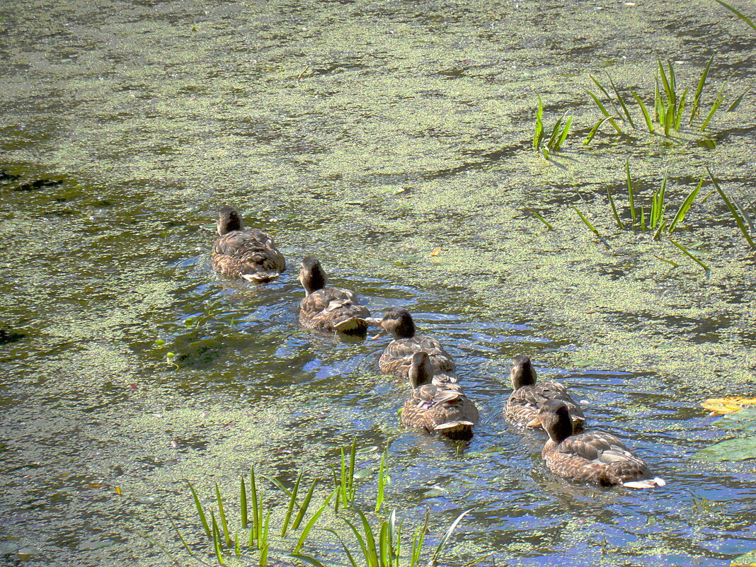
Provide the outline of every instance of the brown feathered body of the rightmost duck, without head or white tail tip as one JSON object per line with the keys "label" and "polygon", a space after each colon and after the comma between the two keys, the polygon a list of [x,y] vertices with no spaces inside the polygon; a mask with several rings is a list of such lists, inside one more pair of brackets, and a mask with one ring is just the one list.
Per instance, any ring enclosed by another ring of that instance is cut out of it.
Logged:
{"label": "brown feathered body of the rightmost duck, without head or white tail tip", "polygon": [[651,478],[648,465],[620,439],[603,432],[572,435],[542,452],[548,469],[578,482],[620,485]]}

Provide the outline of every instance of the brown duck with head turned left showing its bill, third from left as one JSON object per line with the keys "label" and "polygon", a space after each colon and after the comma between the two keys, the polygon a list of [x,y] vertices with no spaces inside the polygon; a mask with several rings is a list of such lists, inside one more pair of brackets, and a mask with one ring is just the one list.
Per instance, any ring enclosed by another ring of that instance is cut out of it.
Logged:
{"label": "brown duck with head turned left showing its bill, third from left", "polygon": [[386,346],[378,361],[381,372],[407,377],[412,355],[426,352],[433,367],[433,383],[457,383],[454,358],[436,339],[417,334],[417,327],[407,309],[393,307],[383,314],[383,318],[369,318],[367,322],[383,328],[394,339]]}

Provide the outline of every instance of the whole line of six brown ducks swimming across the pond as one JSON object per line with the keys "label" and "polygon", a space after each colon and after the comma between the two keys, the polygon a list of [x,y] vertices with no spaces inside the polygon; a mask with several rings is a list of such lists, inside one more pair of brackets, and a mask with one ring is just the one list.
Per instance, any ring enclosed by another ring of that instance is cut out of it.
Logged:
{"label": "whole line of six brown ducks swimming across the pond", "polygon": [[[211,256],[219,273],[253,282],[276,279],[286,268],[274,240],[258,228],[243,228],[234,207],[220,209],[218,240]],[[412,394],[401,411],[405,426],[426,429],[448,438],[470,438],[478,423],[478,409],[458,384],[454,359],[435,339],[417,333],[411,314],[390,308],[383,318],[370,317],[351,290],[326,287],[326,274],[318,259],[302,260],[299,282],[305,297],[299,304],[299,323],[316,330],[364,336],[370,325],[381,327],[393,340],[380,356],[380,370],[403,376]],[[519,355],[510,373],[513,392],[504,418],[522,428],[543,428],[549,438],[541,456],[557,476],[598,485],[631,488],[664,486],[649,466],[614,435],[581,432],[583,411],[565,386],[536,383],[530,359]]]}

